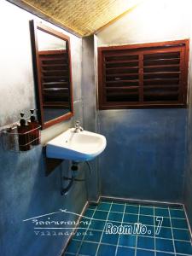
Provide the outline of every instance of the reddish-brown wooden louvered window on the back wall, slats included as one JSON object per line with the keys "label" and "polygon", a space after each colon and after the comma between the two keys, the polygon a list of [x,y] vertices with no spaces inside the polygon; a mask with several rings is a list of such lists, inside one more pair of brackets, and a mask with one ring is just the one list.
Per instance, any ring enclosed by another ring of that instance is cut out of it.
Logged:
{"label": "reddish-brown wooden louvered window on the back wall, slats included", "polygon": [[186,106],[189,40],[98,49],[99,107]]}

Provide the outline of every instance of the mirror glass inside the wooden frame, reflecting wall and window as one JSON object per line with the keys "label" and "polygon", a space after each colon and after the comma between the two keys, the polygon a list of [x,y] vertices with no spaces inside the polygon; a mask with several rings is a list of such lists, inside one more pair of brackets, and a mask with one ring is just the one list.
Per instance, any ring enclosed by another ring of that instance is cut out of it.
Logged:
{"label": "mirror glass inside the wooden frame, reflecting wall and window", "polygon": [[38,55],[42,77],[44,121],[47,122],[62,115],[63,110],[64,113],[70,111],[66,42],[38,30]]}

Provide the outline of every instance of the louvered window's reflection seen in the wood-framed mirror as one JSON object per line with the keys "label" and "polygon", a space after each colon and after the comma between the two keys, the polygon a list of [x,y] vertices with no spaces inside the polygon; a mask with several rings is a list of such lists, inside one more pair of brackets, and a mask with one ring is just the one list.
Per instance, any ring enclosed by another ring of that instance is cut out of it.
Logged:
{"label": "louvered window's reflection seen in the wood-framed mirror", "polygon": [[68,108],[69,70],[66,50],[39,51],[44,108]]}

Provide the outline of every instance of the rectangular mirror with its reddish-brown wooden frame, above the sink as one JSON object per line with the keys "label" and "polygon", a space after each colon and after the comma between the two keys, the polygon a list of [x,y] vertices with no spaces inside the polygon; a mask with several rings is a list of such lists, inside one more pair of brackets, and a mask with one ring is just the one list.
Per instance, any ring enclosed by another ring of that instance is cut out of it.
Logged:
{"label": "rectangular mirror with its reddish-brown wooden frame, above the sink", "polygon": [[42,129],[73,116],[70,38],[31,20],[38,120]]}

